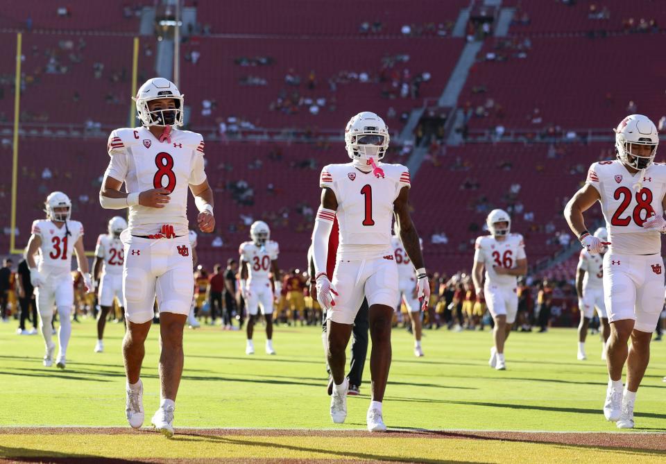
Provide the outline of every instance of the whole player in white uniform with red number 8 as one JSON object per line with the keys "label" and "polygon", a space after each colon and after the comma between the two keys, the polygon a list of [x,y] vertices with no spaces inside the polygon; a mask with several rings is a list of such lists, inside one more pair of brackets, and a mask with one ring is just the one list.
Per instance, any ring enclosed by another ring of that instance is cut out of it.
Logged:
{"label": "whole player in white uniform with red number 8", "polygon": [[[161,402],[152,423],[171,437],[182,375],[182,330],[194,293],[187,191],[194,195],[202,232],[212,232],[215,227],[213,193],[204,170],[203,137],[178,129],[182,126],[183,98],[176,85],[164,78],[149,79],[133,100],[142,127],[111,132],[111,161],[99,199],[104,208],[130,210],[129,227],[120,236],[125,246],[127,420],[135,428],[144,422],[139,374],[157,296]],[[123,182],[125,191],[121,192]]]}

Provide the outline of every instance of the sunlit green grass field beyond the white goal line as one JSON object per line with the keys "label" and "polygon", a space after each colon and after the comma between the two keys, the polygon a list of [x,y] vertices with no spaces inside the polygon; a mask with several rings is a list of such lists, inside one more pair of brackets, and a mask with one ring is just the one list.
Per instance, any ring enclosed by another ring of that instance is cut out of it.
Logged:
{"label": "sunlit green grass field beyond the white goal line", "polygon": [[[0,427],[126,427],[125,379],[120,351],[123,327],[114,324],[107,327],[106,351],[96,354],[93,352],[94,321],[74,323],[67,369],[62,371],[42,366],[41,336],[17,336],[14,324],[1,325],[3,407],[0,408]],[[153,327],[146,343],[142,373],[144,425],[149,425],[149,418],[159,404],[158,334],[157,327]],[[313,432],[365,428],[370,400],[368,363],[362,395],[348,399],[347,422],[333,424],[328,414],[330,400],[325,394],[327,377],[320,330],[278,327],[274,340],[277,356],[263,354],[264,333],[257,331],[257,354],[246,356],[243,332],[224,332],[218,327],[187,330],[185,372],[176,402],[176,431],[179,427],[311,429]],[[402,329],[395,329],[393,364],[384,399],[384,420],[388,427],[402,431],[617,431],[601,413],[606,368],[599,357],[598,336],[588,337],[590,359],[581,362],[576,360],[574,329],[552,329],[547,334],[514,333],[507,345],[504,372],[488,367],[490,341],[487,330],[459,334],[445,329],[425,331],[425,357],[416,359],[412,354],[411,336]],[[662,381],[666,375],[665,349],[660,343],[653,344],[651,363],[636,401],[633,433],[666,430],[666,384]],[[17,446],[26,440],[34,442],[37,440],[34,437],[15,436]],[[86,442],[94,449],[93,438]],[[142,436],[141,440],[157,438],[160,437],[151,434]],[[332,446],[330,440],[336,438],[321,440],[324,441],[320,445],[325,449]],[[368,444],[367,449],[374,446]],[[279,447],[271,452],[275,454],[276,449]],[[4,456],[15,456],[7,453]],[[237,457],[233,453],[223,456]],[[386,455],[400,458],[400,455],[391,456]],[[432,458],[430,452],[421,457]]]}

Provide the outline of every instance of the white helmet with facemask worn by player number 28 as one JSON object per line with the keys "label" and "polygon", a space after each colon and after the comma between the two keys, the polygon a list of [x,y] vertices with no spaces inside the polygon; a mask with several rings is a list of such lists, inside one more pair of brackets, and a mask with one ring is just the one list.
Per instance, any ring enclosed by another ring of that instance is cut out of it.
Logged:
{"label": "white helmet with facemask worn by player number 28", "polygon": [[[642,114],[630,114],[622,119],[615,132],[615,151],[617,158],[634,169],[646,169],[654,161],[659,145],[659,135],[654,123]],[[649,156],[635,155],[632,151],[634,145],[647,145],[651,147]]]}

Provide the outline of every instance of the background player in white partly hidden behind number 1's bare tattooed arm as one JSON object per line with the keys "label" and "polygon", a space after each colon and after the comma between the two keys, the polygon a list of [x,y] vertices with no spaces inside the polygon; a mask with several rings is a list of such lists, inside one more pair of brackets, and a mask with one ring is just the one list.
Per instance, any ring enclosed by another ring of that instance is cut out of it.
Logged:
{"label": "background player in white partly hidden behind number 1's bare tattooed arm", "polygon": [[[398,311],[404,301],[409,311],[409,320],[411,320],[411,330],[414,334],[414,356],[423,356],[421,348],[421,304],[416,295],[416,270],[411,264],[407,253],[404,252],[402,240],[398,235],[391,237],[391,246],[393,246],[393,255],[395,264],[398,264]],[[419,239],[419,246],[423,250],[423,241]]]}

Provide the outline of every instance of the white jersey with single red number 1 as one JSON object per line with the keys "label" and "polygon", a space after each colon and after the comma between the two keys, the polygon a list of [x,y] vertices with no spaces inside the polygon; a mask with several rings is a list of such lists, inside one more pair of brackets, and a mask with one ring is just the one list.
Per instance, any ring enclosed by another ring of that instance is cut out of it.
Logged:
{"label": "white jersey with single red number 1", "polygon": [[379,163],[384,178],[364,173],[352,163],[329,164],[319,186],[333,191],[338,202],[337,259],[373,259],[392,253],[393,202],[402,187],[410,187],[409,170],[402,164]]}

